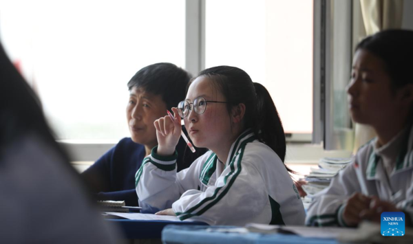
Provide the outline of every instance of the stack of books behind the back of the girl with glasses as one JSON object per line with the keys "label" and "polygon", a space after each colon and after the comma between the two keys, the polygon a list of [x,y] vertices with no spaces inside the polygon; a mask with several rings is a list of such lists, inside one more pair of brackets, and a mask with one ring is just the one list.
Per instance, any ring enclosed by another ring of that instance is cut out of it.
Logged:
{"label": "stack of books behind the back of the girl with glasses", "polygon": [[306,185],[301,186],[307,193],[304,197],[304,206],[309,206],[314,195],[330,185],[332,177],[352,162],[352,157],[323,157],[319,161],[319,168],[311,168],[310,174],[306,176]]}

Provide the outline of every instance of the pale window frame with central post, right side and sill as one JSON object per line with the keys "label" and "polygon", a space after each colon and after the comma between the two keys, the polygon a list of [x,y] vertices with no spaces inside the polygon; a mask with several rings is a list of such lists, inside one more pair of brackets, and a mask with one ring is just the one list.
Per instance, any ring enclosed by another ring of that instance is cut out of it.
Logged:
{"label": "pale window frame with central post, right side and sill", "polygon": [[[336,0],[337,1],[337,0]],[[352,130],[346,133],[337,133],[332,128],[332,85],[330,79],[330,58],[334,50],[331,50],[332,16],[334,0],[313,0],[313,133],[291,133],[286,137],[288,146],[294,144],[307,144],[309,146],[322,145],[324,149],[349,149],[337,142],[349,141]],[[198,74],[205,67],[205,0],[186,0],[185,19],[185,69],[191,74]],[[352,5],[352,1],[349,3]],[[341,18],[350,16],[352,11],[345,12]],[[339,17],[340,18],[340,17]],[[335,19],[343,21],[343,19]],[[351,24],[351,23],[350,23]],[[350,26],[351,28],[351,26]],[[352,36],[348,37],[352,43]],[[350,45],[351,47],[351,45]],[[337,49],[337,47],[335,47]],[[351,50],[350,50],[351,52]],[[334,61],[334,60],[332,60]],[[351,62],[345,60],[344,62]],[[116,145],[117,142],[78,142],[74,140],[58,140],[72,155],[72,161],[96,161],[106,151]],[[324,142],[324,143],[323,143]],[[328,146],[331,145],[331,146]],[[337,146],[339,145],[339,146]],[[294,160],[293,160],[294,161]]]}

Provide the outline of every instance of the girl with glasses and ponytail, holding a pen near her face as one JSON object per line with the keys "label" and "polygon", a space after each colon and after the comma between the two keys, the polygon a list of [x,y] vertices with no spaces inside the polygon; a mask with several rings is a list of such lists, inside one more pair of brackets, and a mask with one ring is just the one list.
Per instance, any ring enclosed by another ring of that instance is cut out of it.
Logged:
{"label": "girl with glasses and ponytail, holding a pen near her face", "polygon": [[[154,122],[158,146],[136,173],[142,212],[210,225],[304,224],[304,208],[284,165],[281,120],[266,89],[242,69],[205,69],[184,101]],[[180,120],[210,151],[176,173]]]}

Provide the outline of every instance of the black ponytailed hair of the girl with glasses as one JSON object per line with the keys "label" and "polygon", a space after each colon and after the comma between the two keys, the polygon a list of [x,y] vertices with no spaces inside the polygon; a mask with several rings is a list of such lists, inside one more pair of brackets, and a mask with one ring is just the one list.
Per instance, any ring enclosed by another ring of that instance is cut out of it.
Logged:
{"label": "black ponytailed hair of the girl with glasses", "polygon": [[[215,82],[226,98],[226,108],[229,113],[238,104],[245,105],[245,129],[251,129],[258,140],[272,148],[284,162],[286,156],[284,128],[266,88],[253,82],[244,70],[237,67],[212,67],[201,71],[199,76],[206,76]],[[288,168],[287,170],[293,172]]]}

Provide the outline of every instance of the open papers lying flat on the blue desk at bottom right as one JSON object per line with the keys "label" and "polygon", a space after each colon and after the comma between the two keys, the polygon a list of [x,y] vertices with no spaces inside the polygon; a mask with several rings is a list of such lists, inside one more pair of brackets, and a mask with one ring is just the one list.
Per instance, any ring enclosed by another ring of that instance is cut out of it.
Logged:
{"label": "open papers lying flat on the blue desk at bottom right", "polygon": [[357,230],[351,228],[320,228],[320,227],[304,227],[304,226],[284,226],[284,225],[263,225],[259,223],[249,223],[245,226],[249,232],[258,233],[281,233],[281,234],[297,234],[303,237],[314,237],[323,239],[337,239],[339,236],[354,235]]}

